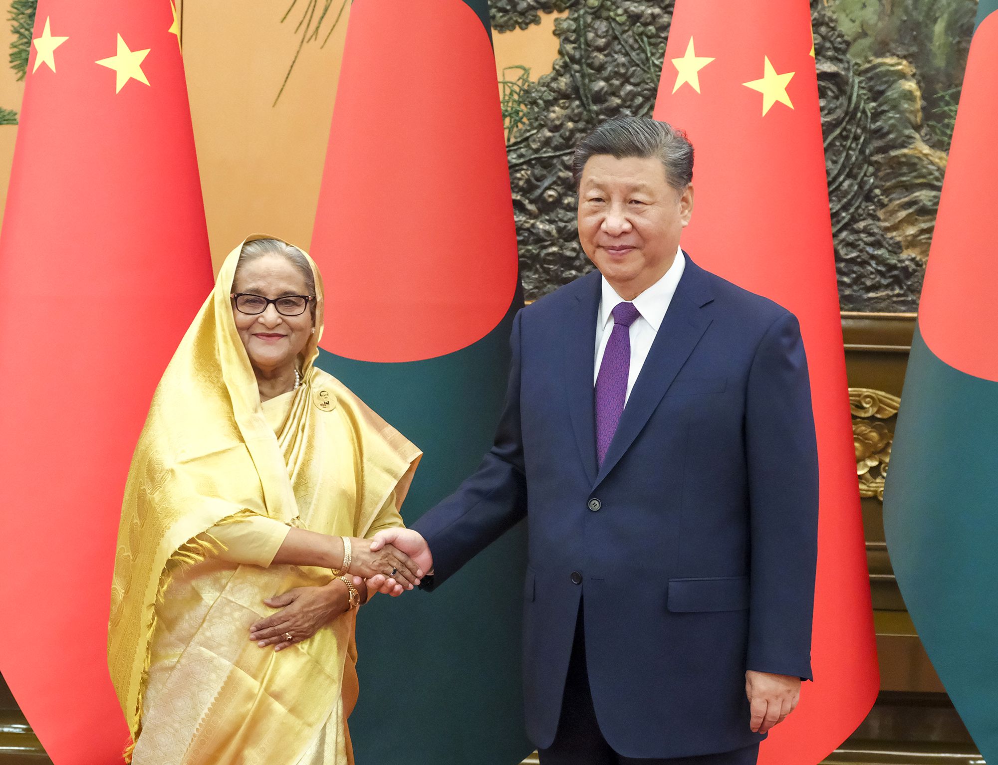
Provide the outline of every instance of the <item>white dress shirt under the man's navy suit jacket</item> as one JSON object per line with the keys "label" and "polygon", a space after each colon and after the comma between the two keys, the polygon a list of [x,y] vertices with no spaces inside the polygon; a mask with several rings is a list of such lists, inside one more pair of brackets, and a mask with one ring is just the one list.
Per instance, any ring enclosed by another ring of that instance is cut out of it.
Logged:
{"label": "white dress shirt under the man's navy suit jacket", "polygon": [[[631,398],[631,390],[641,373],[641,368],[645,365],[648,352],[652,350],[652,343],[659,333],[659,326],[666,317],[669,303],[673,301],[676,294],[676,287],[680,283],[683,269],[686,268],[686,258],[683,250],[677,248],[676,259],[669,266],[662,278],[652,286],[638,295],[632,302],[638,309],[641,316],[634,320],[631,325],[631,371],[627,378],[627,395],[624,403]],[[624,298],[617,294],[617,291],[610,286],[606,276],[603,277],[603,294],[600,297],[600,310],[596,314],[596,368],[593,370],[593,385],[596,385],[596,378],[600,375],[600,364],[603,363],[603,352],[607,348],[610,340],[610,333],[614,328],[613,310],[618,303],[623,303]]]}

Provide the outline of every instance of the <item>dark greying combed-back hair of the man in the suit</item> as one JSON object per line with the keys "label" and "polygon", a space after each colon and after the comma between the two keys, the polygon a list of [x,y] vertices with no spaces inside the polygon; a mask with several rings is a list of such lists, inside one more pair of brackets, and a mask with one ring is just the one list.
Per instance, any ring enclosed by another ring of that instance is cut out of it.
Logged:
{"label": "dark greying combed-back hair of the man in the suit", "polygon": [[693,144],[686,133],[669,123],[649,117],[615,117],[607,120],[579,142],[572,157],[572,177],[578,190],[582,170],[590,158],[608,154],[627,157],[658,157],[666,169],[669,186],[684,191],[693,183]]}

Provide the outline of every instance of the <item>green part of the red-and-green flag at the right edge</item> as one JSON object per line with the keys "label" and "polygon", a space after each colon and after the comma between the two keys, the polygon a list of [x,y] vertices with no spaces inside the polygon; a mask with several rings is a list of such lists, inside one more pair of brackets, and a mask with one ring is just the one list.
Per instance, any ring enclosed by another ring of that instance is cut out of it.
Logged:
{"label": "green part of the red-and-green flag at the right edge", "polygon": [[998,762],[998,383],[915,332],[883,511],[905,604],[953,704]]}

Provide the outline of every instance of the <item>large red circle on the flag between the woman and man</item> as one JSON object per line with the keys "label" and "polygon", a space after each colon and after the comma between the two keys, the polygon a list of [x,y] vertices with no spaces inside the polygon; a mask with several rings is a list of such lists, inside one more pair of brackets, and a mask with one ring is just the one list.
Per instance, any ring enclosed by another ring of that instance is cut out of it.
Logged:
{"label": "large red circle on the flag between the woman and man", "polygon": [[491,331],[516,289],[492,47],[460,0],[350,13],[311,245],[322,346],[363,361],[441,356]]}

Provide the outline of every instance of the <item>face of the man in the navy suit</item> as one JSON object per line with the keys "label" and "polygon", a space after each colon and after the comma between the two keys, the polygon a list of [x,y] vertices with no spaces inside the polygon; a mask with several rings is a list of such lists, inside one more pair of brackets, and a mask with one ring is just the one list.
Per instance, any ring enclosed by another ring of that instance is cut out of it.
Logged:
{"label": "face of the man in the navy suit", "polygon": [[607,281],[633,300],[673,264],[693,214],[693,186],[673,189],[657,157],[591,157],[579,184],[579,240]]}

